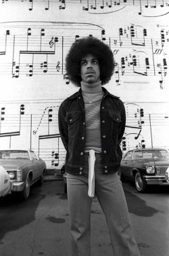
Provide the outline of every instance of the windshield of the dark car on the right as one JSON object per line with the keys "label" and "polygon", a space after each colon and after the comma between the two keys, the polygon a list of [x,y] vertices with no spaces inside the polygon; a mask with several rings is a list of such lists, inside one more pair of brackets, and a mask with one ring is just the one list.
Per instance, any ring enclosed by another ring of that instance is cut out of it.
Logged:
{"label": "windshield of the dark car on the right", "polygon": [[138,150],[133,154],[133,160],[147,158],[169,158],[169,153],[164,149]]}

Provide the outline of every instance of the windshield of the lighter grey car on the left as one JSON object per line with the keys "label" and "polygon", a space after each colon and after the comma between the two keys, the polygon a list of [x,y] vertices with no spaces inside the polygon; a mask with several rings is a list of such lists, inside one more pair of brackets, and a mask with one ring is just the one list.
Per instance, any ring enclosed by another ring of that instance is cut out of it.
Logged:
{"label": "windshield of the lighter grey car on the left", "polygon": [[0,150],[0,160],[29,160],[28,151],[25,150]]}

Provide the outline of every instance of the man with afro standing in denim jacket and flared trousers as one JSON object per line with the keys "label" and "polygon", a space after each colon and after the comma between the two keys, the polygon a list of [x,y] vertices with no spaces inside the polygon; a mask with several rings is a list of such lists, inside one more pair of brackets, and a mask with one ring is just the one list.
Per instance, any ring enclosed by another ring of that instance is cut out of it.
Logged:
{"label": "man with afro standing in denim jacket and flared trousers", "polygon": [[103,88],[114,72],[112,50],[95,37],[78,39],[66,57],[66,71],[70,81],[80,87],[59,107],[72,256],[91,256],[90,219],[95,195],[105,214],[114,256],[139,256],[118,177],[126,123],[124,104]]}

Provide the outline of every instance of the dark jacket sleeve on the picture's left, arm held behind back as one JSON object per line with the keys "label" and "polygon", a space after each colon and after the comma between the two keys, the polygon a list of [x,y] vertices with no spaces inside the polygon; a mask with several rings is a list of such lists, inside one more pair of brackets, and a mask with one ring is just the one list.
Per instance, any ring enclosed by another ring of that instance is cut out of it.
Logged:
{"label": "dark jacket sleeve on the picture's left, arm held behind back", "polygon": [[62,103],[58,111],[59,134],[61,136],[62,143],[68,152],[68,123],[65,121],[65,117],[66,109],[64,107],[64,103]]}

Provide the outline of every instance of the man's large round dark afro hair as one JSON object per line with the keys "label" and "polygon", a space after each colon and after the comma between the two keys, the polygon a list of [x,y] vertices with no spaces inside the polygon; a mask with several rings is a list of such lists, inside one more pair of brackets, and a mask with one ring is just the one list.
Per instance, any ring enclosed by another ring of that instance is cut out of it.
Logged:
{"label": "man's large round dark afro hair", "polygon": [[84,56],[92,54],[99,61],[101,85],[110,81],[114,73],[114,54],[109,45],[93,37],[77,39],[66,56],[66,73],[72,84],[80,87],[82,78],[80,76],[80,62]]}

